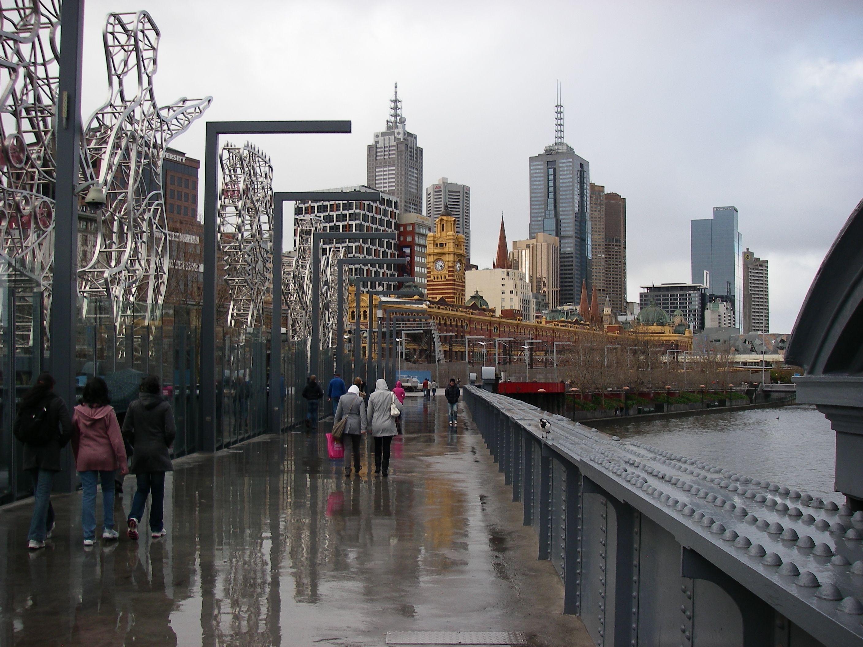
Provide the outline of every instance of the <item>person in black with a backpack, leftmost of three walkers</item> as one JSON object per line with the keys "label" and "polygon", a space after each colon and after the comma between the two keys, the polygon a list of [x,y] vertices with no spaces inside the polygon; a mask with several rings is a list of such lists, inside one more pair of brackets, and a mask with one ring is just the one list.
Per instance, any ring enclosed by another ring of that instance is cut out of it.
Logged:
{"label": "person in black with a backpack, leftmost of three walkers", "polygon": [[33,516],[30,518],[28,548],[45,548],[54,530],[51,487],[60,472],[60,449],[72,437],[72,418],[66,403],[54,393],[54,377],[42,373],[24,393],[13,426],[15,437],[24,444],[22,469],[33,479]]}

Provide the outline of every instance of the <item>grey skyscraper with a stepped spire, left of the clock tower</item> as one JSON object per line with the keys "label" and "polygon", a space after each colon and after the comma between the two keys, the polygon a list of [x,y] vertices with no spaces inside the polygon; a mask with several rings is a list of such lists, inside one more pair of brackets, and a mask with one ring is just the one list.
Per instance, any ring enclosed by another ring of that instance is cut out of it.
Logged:
{"label": "grey skyscraper with a stepped spire, left of the clock tower", "polygon": [[402,212],[422,213],[423,149],[405,127],[399,84],[389,100],[387,129],[375,133],[375,143],[369,144],[366,184],[394,196]]}

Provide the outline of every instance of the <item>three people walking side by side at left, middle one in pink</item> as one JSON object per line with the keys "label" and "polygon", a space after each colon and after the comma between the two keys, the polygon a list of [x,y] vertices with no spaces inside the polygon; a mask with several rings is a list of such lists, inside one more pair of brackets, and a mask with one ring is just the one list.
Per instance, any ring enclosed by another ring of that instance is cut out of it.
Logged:
{"label": "three people walking side by side at left, middle one in pink", "polygon": [[[167,534],[163,522],[165,473],[172,470],[170,447],[175,436],[171,405],[161,395],[159,379],[148,375],[142,380],[141,393],[129,405],[123,429],[110,405],[105,381],[91,377],[84,386],[81,404],[72,416],[63,399],[54,393],[54,378],[42,373],[18,407],[14,433],[23,444],[22,468],[33,480],[34,505],[28,532],[28,548],[44,548],[56,527],[51,488],[54,474],[61,470],[60,453],[72,441],[75,469],[81,481],[81,527],[84,545],[96,542],[96,499],[102,486],[102,538],[116,540],[120,533],[114,521],[115,479],[122,482],[129,472],[137,479],[135,499],[126,519],[129,539],[138,538],[147,499],[150,501],[148,525],[151,537]],[[122,490],[121,490],[122,492]]]}

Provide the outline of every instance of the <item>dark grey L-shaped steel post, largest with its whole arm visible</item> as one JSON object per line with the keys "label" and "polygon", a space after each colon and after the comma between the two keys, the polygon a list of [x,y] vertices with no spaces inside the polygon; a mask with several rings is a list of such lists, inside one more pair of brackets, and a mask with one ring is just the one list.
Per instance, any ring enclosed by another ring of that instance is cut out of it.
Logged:
{"label": "dark grey L-shaped steel post, largest with its whole arm visible", "polygon": [[[65,9],[64,5],[64,11]],[[219,135],[303,133],[350,133],[350,122],[207,122],[204,173],[204,303],[201,309],[201,424],[198,430],[198,448],[202,451],[216,449],[218,138]]]}

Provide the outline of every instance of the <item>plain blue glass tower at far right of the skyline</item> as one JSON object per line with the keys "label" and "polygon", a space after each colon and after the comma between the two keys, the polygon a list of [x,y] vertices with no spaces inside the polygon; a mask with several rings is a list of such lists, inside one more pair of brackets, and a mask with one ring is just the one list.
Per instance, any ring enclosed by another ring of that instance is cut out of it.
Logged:
{"label": "plain blue glass tower at far right of the skyline", "polygon": [[[692,282],[710,297],[734,307],[734,326],[743,322],[743,237],[737,207],[714,207],[713,218],[690,222]],[[715,300],[709,298],[709,300]]]}

